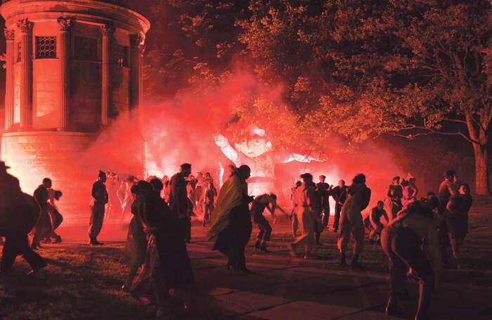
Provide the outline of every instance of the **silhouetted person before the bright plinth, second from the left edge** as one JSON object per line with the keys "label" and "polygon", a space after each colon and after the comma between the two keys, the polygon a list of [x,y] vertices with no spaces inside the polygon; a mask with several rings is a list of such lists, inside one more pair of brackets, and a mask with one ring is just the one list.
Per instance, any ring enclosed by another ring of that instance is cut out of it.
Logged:
{"label": "silhouetted person before the bright plinth, second from the left edge", "polygon": [[51,224],[51,217],[48,210],[51,210],[51,205],[48,203],[48,189],[51,188],[52,182],[49,178],[43,179],[43,184],[40,184],[36,190],[34,190],[34,199],[36,199],[37,204],[41,208],[39,219],[32,230],[32,245],[31,247],[35,250],[41,245],[41,238],[46,238],[51,236],[51,231],[53,226]]}

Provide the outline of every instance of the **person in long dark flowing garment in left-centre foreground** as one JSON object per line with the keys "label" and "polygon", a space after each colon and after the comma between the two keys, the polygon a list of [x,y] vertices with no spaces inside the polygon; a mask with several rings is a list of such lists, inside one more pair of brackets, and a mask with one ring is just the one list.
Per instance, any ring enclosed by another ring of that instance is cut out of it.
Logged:
{"label": "person in long dark flowing garment in left-centre foreground", "polygon": [[131,288],[136,299],[157,305],[158,314],[171,305],[186,308],[179,294],[193,283],[186,243],[176,228],[179,222],[160,198],[160,190],[146,181],[138,182],[138,212],[148,243],[143,269]]}

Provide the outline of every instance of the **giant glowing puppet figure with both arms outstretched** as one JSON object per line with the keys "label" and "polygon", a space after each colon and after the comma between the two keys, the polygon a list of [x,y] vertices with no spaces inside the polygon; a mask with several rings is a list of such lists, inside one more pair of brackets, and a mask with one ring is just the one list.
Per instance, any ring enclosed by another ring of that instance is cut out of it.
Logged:
{"label": "giant glowing puppet figure with both arms outstretched", "polygon": [[250,127],[245,134],[242,134],[239,141],[234,143],[234,148],[221,134],[215,134],[214,140],[222,153],[234,162],[236,167],[247,165],[251,168],[251,177],[247,181],[248,193],[254,196],[275,191],[277,163],[322,161],[308,155],[273,152],[272,143],[268,141],[265,130],[257,126]]}

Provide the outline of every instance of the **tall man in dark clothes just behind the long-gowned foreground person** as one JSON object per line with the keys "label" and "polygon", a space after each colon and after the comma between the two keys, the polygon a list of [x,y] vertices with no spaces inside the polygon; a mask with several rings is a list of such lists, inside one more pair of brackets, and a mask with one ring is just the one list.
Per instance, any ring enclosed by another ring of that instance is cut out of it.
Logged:
{"label": "tall man in dark clothes just behind the long-gowned foreground person", "polygon": [[169,208],[171,212],[176,216],[179,221],[179,229],[183,235],[183,239],[186,242],[191,240],[191,217],[190,200],[188,199],[188,193],[186,190],[186,177],[191,173],[191,165],[189,163],[183,163],[179,172],[174,174],[169,181]]}

